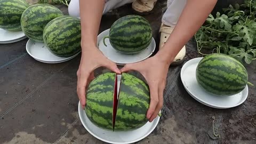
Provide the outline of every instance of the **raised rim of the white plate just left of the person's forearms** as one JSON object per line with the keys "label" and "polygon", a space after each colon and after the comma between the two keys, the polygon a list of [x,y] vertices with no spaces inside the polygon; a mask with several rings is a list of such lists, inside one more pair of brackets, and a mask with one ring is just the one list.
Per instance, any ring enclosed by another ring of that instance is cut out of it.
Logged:
{"label": "raised rim of the white plate just left of the person's forearms", "polygon": [[[81,51],[79,51],[78,53],[76,53],[75,55],[72,55],[71,57],[67,57],[67,58],[63,58],[61,60],[43,60],[43,59],[39,59],[37,57],[35,57],[35,55],[33,55],[31,52],[30,52],[30,48],[29,48],[29,45],[31,45],[32,43],[43,43],[43,42],[35,42],[31,39],[28,39],[27,43],[26,43],[26,51],[27,53],[33,57],[35,60],[37,61],[40,61],[40,62],[44,62],[44,63],[61,63],[61,62],[65,62],[65,61],[68,61],[70,59],[73,59],[75,58],[79,53],[81,53]],[[43,43],[44,44],[44,43]],[[47,48],[46,48],[47,49]],[[49,51],[49,50],[48,50]],[[58,57],[58,56],[56,56]],[[61,58],[61,57],[60,57]]]}

